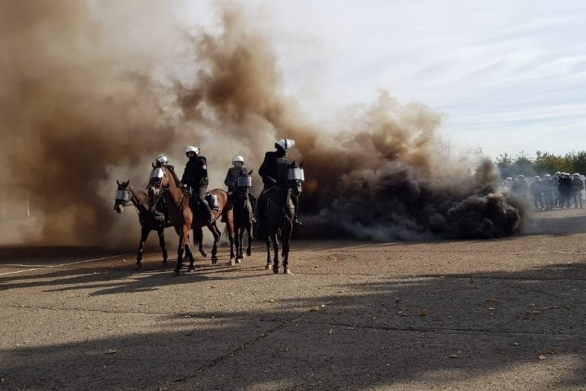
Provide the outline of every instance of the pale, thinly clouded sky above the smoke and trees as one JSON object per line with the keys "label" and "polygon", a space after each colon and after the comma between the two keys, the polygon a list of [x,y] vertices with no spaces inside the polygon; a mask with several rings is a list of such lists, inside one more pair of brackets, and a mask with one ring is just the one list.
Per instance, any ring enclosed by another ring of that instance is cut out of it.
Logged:
{"label": "pale, thinly clouded sky above the smoke and trees", "polygon": [[274,37],[287,93],[316,119],[387,89],[442,112],[440,134],[458,150],[586,149],[586,2],[242,4]]}

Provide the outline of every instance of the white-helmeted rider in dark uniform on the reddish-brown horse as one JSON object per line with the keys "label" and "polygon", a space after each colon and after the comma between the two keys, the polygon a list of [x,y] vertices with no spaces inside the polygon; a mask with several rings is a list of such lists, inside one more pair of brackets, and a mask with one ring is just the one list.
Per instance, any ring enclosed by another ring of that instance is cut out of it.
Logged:
{"label": "white-helmeted rider in dark uniform on the reddish-brown horse", "polygon": [[206,213],[208,224],[214,221],[214,215],[210,209],[210,205],[206,201],[206,194],[208,193],[208,162],[204,156],[199,156],[199,148],[193,145],[188,145],[183,149],[185,155],[189,159],[183,171],[181,183],[191,191],[192,198],[199,202]]}

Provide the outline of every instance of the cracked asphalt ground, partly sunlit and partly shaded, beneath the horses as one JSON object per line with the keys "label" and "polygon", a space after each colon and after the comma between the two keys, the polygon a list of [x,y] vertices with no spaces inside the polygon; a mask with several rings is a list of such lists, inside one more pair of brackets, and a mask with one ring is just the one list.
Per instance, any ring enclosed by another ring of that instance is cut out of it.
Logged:
{"label": "cracked asphalt ground, partly sunlit and partly shaded, beneath the horses", "polygon": [[295,241],[294,275],[260,243],[179,277],[158,251],[136,272],[134,254],[3,246],[0,390],[586,390],[586,212],[527,232]]}

